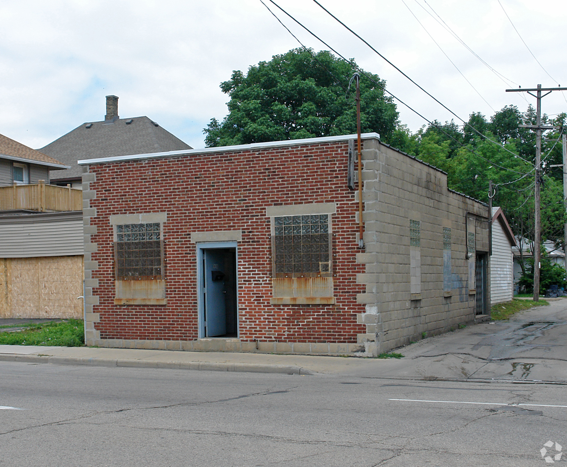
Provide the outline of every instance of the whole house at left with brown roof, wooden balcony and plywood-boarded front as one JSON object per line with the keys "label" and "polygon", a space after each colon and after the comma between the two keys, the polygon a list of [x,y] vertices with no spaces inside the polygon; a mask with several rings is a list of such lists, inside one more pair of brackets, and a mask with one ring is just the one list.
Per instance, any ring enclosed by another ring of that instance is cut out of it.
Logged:
{"label": "whole house at left with brown roof, wooden balcony and plywood-boarded front", "polygon": [[82,193],[45,183],[64,169],[0,135],[0,318],[83,315]]}

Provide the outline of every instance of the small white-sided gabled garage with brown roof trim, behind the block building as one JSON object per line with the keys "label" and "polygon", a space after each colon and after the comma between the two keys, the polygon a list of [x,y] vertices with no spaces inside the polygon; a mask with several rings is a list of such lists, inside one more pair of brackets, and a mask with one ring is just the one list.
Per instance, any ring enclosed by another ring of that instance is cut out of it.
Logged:
{"label": "small white-sided gabled garage with brown roof trim, behind the block building", "polygon": [[512,247],[514,234],[499,207],[492,208],[492,256],[490,256],[490,304],[514,298]]}

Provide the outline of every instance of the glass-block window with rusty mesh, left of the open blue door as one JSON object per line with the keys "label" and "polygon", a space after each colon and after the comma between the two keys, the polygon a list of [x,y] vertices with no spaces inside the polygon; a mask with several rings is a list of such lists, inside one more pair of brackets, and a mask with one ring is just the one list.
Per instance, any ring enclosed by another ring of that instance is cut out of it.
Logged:
{"label": "glass-block window with rusty mesh, left of the open blue door", "polygon": [[163,241],[159,222],[116,226],[117,280],[162,279]]}

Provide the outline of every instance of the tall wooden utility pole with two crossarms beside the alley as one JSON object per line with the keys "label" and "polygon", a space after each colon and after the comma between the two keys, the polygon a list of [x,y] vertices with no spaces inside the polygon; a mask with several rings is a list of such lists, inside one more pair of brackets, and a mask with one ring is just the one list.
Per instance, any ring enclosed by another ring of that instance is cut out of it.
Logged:
{"label": "tall wooden utility pole with two crossarms beside the alley", "polygon": [[[541,91],[548,91],[541,95]],[[539,301],[539,268],[541,267],[541,214],[540,214],[540,184],[541,184],[541,132],[544,130],[554,130],[557,127],[546,127],[541,125],[541,98],[544,98],[551,91],[567,91],[567,87],[545,87],[538,85],[536,89],[506,89],[506,92],[527,92],[538,99],[536,105],[536,124],[520,125],[521,128],[531,128],[535,130],[535,196],[534,196],[534,301]],[[537,92],[537,94],[532,94]],[[565,168],[564,168],[565,171]]]}

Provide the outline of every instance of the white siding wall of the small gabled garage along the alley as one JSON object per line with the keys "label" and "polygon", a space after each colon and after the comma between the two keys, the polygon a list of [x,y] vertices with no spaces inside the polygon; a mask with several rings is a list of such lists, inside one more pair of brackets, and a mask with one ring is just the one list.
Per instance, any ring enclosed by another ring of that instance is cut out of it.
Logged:
{"label": "white siding wall of the small gabled garage along the alley", "polygon": [[492,256],[490,256],[490,302],[511,301],[512,249],[499,221],[492,224]]}

